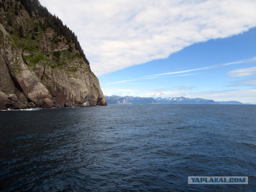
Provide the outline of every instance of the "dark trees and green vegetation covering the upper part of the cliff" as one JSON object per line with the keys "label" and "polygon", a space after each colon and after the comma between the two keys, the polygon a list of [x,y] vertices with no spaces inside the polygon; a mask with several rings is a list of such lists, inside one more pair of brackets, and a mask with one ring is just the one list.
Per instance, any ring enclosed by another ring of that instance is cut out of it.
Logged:
{"label": "dark trees and green vegetation covering the upper part of the cliff", "polygon": [[[27,45],[28,40],[31,41],[30,45],[33,47],[27,47],[28,51],[38,48],[42,34],[51,28],[54,34],[48,40],[55,44],[65,43],[70,52],[78,52],[88,66],[90,65],[74,32],[63,25],[58,16],[52,15],[46,7],[41,6],[38,0],[0,0],[0,9],[4,10],[0,13],[0,23],[7,26],[6,30],[19,36],[21,45]],[[25,11],[28,16],[24,14]]]}

